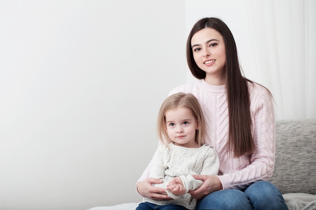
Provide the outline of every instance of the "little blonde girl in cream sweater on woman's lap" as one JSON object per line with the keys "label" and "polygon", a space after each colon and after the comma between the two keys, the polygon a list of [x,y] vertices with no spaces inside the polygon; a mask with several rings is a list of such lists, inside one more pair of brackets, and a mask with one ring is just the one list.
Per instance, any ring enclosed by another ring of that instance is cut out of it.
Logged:
{"label": "little blonde girl in cream sweater on woman's lap", "polygon": [[193,175],[218,174],[219,159],[213,147],[203,145],[205,123],[197,99],[192,94],[177,93],[162,104],[157,128],[160,144],[151,160],[149,177],[163,182],[154,187],[165,188],[169,200],[145,197],[137,210],[195,209],[196,199],[188,193],[202,184]]}

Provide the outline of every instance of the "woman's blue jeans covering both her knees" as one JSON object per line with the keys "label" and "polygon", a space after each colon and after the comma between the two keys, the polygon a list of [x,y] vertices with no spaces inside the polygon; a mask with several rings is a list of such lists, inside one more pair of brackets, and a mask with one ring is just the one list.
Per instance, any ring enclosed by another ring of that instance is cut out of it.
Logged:
{"label": "woman's blue jeans covering both her knees", "polygon": [[268,181],[258,181],[244,191],[236,189],[210,193],[197,201],[196,210],[288,210],[279,189]]}

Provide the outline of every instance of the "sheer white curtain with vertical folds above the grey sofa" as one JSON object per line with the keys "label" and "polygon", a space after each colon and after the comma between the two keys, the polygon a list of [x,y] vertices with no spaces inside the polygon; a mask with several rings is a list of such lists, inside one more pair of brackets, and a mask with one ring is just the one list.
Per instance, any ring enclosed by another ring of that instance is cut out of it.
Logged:
{"label": "sheer white curtain with vertical folds above the grey sofa", "polygon": [[316,118],[316,1],[245,0],[258,82],[276,119]]}

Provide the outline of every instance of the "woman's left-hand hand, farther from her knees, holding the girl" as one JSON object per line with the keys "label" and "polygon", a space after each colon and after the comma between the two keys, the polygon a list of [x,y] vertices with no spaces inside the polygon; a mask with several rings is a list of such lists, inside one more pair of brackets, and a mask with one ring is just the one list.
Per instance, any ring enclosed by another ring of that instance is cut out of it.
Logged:
{"label": "woman's left-hand hand, farther from her knees, holding the girl", "polygon": [[141,196],[152,200],[170,200],[171,198],[167,195],[166,189],[152,186],[152,184],[161,184],[163,182],[161,179],[149,177],[137,183],[137,191]]}

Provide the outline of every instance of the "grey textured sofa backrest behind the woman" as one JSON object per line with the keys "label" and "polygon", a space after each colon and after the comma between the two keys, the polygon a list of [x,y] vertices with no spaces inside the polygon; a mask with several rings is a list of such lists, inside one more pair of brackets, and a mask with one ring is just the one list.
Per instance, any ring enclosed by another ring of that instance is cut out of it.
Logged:
{"label": "grey textured sofa backrest behind the woman", "polygon": [[316,194],[316,119],[276,121],[276,141],[270,181],[281,193]]}

